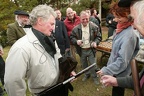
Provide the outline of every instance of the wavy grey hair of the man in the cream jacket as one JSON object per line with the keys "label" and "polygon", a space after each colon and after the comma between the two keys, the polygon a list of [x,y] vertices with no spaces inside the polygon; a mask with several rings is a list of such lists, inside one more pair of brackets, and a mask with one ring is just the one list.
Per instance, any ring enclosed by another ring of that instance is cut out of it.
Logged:
{"label": "wavy grey hair of the man in the cream jacket", "polygon": [[53,15],[55,18],[57,14],[55,13],[54,9],[47,5],[38,5],[30,13],[30,23],[31,25],[35,25],[37,22],[37,18],[41,17],[44,20],[48,20],[50,15]]}

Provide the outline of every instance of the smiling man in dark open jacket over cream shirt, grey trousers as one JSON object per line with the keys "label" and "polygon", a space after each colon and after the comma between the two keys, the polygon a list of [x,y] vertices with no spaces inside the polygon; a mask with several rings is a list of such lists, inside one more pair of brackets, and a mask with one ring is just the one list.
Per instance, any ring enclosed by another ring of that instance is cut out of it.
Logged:
{"label": "smiling man in dark open jacket over cream shirt, grey trousers", "polygon": [[[80,13],[81,23],[73,28],[70,35],[70,40],[80,56],[83,69],[88,67],[89,64],[91,65],[96,62],[95,48],[102,40],[99,27],[89,21],[89,16],[86,11],[82,11]],[[82,81],[86,81],[90,76],[93,78],[95,84],[99,84],[95,68],[86,72]]]}

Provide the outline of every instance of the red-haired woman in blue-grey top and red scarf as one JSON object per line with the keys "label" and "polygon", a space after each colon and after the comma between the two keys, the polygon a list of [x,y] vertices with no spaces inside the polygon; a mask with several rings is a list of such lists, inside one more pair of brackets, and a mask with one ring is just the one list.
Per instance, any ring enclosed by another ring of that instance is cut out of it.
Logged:
{"label": "red-haired woman in blue-grey top and red scarf", "polygon": [[[100,75],[111,75],[114,77],[125,77],[131,74],[130,62],[139,49],[139,38],[134,33],[131,24],[129,7],[119,7],[118,3],[111,6],[110,12],[118,23],[113,37],[113,45],[107,66],[97,73]],[[124,88],[113,87],[112,96],[124,96]]]}

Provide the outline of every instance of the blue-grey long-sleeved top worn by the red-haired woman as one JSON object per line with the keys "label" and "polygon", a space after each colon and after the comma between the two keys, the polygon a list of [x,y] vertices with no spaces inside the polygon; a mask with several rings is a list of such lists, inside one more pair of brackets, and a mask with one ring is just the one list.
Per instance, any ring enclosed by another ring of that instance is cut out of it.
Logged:
{"label": "blue-grey long-sleeved top worn by the red-haired woman", "polygon": [[114,36],[111,55],[102,72],[116,77],[130,75],[130,62],[138,50],[139,37],[133,32],[132,26],[129,26]]}

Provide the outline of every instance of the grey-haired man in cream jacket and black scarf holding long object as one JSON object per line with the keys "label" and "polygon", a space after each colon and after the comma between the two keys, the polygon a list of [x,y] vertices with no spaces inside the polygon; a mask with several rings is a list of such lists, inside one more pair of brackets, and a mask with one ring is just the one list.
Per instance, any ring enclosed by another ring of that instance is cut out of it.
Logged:
{"label": "grey-haired man in cream jacket and black scarf holding long object", "polygon": [[[61,55],[51,38],[55,18],[56,13],[47,5],[38,5],[31,11],[32,28],[11,47],[6,58],[4,80],[8,96],[26,96],[27,83],[32,94],[58,83]],[[60,96],[65,91],[61,89],[41,96]]]}

